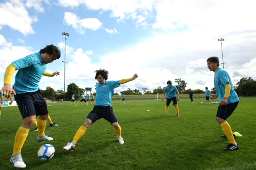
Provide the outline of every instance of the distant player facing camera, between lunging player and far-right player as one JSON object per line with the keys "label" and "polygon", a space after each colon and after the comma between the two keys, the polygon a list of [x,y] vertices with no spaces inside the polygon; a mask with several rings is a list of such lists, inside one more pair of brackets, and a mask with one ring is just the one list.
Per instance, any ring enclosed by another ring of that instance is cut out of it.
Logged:
{"label": "distant player facing camera, between lunging player and far-right player", "polygon": [[[177,93],[178,97],[176,96],[176,93]],[[167,81],[167,86],[164,89],[164,94],[163,94],[162,101],[165,99],[166,94],[167,94],[167,101],[166,101],[164,116],[168,115],[169,104],[170,104],[170,102],[173,101],[173,105],[174,105],[174,107],[176,109],[176,112],[177,112],[176,115],[179,117],[180,113],[179,113],[179,107],[177,105],[177,101],[180,101],[180,94],[179,94],[178,89],[175,86],[172,85],[172,81],[170,81],[170,80]]]}

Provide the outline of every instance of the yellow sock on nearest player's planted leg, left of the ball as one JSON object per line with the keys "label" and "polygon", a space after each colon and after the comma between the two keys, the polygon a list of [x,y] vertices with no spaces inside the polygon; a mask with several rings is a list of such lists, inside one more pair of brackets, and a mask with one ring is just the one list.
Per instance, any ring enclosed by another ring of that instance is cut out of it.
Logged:
{"label": "yellow sock on nearest player's planted leg, left of the ball", "polygon": [[19,127],[16,132],[12,155],[22,152],[22,147],[29,134],[29,130],[30,129],[26,129],[22,126]]}

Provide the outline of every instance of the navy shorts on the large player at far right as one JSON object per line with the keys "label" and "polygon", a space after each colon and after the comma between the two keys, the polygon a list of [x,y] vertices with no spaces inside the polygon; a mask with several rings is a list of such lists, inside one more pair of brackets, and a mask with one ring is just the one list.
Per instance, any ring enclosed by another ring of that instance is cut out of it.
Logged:
{"label": "navy shorts on the large player at far right", "polygon": [[224,120],[226,120],[233,113],[234,109],[237,108],[238,103],[239,103],[239,101],[230,103],[227,105],[219,106],[216,117],[220,117],[220,118],[223,118]]}

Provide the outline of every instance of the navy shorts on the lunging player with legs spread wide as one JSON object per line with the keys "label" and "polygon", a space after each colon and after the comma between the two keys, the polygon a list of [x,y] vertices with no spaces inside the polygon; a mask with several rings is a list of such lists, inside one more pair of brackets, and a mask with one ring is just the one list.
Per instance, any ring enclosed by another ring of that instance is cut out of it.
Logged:
{"label": "navy shorts on the lunging player with legs spread wide", "polygon": [[111,106],[94,106],[87,118],[92,120],[92,124],[101,118],[108,120],[111,124],[118,122],[118,119]]}

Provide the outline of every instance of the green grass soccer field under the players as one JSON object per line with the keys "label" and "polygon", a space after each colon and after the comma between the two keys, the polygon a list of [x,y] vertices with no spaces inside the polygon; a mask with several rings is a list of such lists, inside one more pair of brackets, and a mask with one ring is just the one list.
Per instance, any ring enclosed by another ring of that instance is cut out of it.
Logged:
{"label": "green grass soccer field under the players", "polygon": [[[214,100],[217,101],[217,100]],[[27,169],[256,169],[256,98],[241,98],[238,108],[228,118],[241,149],[223,151],[228,140],[216,121],[218,105],[200,105],[204,99],[178,102],[180,117],[170,105],[164,117],[166,102],[161,100],[113,101],[112,105],[122,127],[124,144],[119,144],[110,123],[98,120],[77,142],[73,152],[63,151],[93,106],[84,103],[51,103],[49,112],[59,127],[49,127],[51,142],[38,143],[34,126],[24,144],[22,155]],[[150,111],[147,111],[147,110]],[[9,159],[15,133],[23,124],[17,106],[2,107],[0,120],[0,169],[13,169]],[[55,155],[40,161],[37,151],[50,143]]]}

